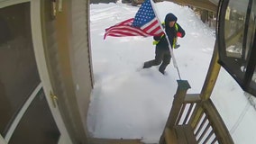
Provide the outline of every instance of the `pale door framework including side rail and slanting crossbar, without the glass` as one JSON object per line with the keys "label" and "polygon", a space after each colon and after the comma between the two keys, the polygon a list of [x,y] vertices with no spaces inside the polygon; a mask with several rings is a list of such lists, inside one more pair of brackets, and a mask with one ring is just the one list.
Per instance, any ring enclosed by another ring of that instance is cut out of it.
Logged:
{"label": "pale door framework including side rail and slanting crossbar, without the glass", "polygon": [[39,89],[43,88],[44,94],[46,96],[47,103],[50,107],[50,112],[53,116],[54,121],[60,132],[59,144],[71,144],[72,141],[69,137],[69,132],[62,120],[62,117],[59,112],[58,104],[54,105],[52,99],[50,98],[50,93],[52,92],[52,87],[50,84],[50,76],[47,69],[44,47],[43,47],[43,39],[42,39],[42,31],[41,31],[41,0],[0,0],[0,8],[4,8],[6,6],[10,6],[13,4],[22,4],[29,2],[31,5],[31,31],[32,31],[32,45],[35,55],[35,60],[38,68],[38,72],[41,78],[41,84],[35,88],[32,95],[28,98],[28,100],[23,104],[23,108],[16,115],[11,127],[7,131],[5,138],[0,135],[0,142],[7,144],[11,139],[16,126],[19,121],[23,117],[24,112],[32,103],[33,98]]}

